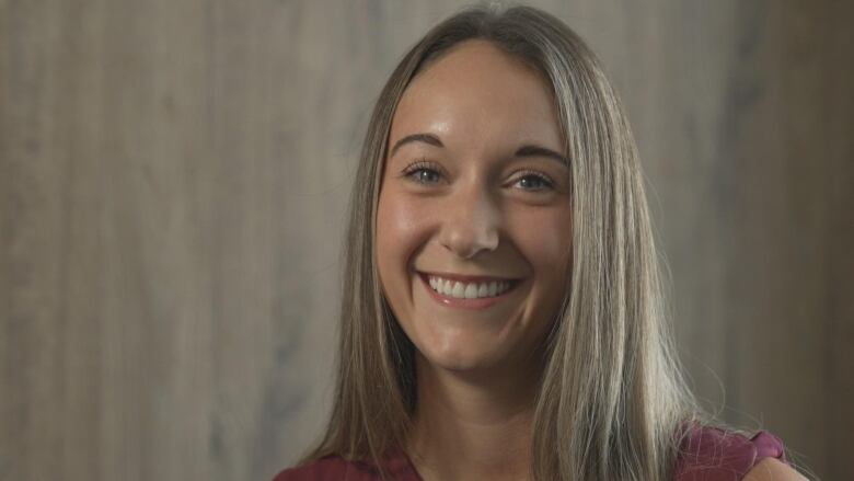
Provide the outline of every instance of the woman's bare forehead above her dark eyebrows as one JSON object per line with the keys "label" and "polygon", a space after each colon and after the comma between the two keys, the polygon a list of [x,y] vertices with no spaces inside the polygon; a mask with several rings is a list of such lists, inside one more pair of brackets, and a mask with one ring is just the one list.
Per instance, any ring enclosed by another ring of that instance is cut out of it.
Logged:
{"label": "woman's bare forehead above her dark eyebrows", "polygon": [[422,131],[466,145],[561,146],[550,84],[533,67],[485,41],[452,47],[406,88],[391,139]]}

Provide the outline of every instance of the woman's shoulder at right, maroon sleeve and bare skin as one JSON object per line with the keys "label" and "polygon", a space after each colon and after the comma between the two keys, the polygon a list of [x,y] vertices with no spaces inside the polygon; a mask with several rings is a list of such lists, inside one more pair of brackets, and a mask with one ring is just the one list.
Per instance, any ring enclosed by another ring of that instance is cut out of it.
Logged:
{"label": "woman's shoulder at right, maroon sleeve and bare skin", "polygon": [[[676,481],[780,481],[801,478],[782,477],[797,472],[788,468],[783,442],[760,432],[751,437],[717,427],[694,427],[685,433],[679,446]],[[773,471],[770,471],[773,470]],[[768,478],[766,472],[774,478]],[[764,476],[764,477],[763,477]]]}

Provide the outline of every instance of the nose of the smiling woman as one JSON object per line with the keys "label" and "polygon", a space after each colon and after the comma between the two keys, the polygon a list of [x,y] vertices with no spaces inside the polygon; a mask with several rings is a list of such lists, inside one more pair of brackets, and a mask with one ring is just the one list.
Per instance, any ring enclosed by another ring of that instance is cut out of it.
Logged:
{"label": "nose of the smiling woman", "polygon": [[461,259],[498,248],[500,210],[489,193],[480,186],[461,188],[448,197],[441,244]]}

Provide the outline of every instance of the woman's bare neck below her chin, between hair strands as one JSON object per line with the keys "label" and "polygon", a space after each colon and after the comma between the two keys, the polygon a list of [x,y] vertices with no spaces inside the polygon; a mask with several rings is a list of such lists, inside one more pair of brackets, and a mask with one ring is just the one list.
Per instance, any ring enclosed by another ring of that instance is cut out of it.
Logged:
{"label": "woman's bare neck below her chin, between hair strands", "polygon": [[407,450],[422,478],[530,478],[536,369],[460,373],[416,356],[418,402]]}

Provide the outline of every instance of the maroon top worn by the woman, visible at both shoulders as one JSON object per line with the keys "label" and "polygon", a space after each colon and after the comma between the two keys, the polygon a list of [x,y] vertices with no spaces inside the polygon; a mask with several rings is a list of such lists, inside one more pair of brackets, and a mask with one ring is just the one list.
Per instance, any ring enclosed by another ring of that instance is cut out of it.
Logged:
{"label": "maroon top worn by the woman, visible at both shoulders", "polygon": [[[768,432],[751,438],[714,427],[694,431],[683,442],[673,481],[738,481],[764,458],[786,461],[783,443]],[[404,453],[388,458],[391,479],[423,481]],[[286,469],[273,481],[377,481],[372,463],[330,456],[300,468]]]}

